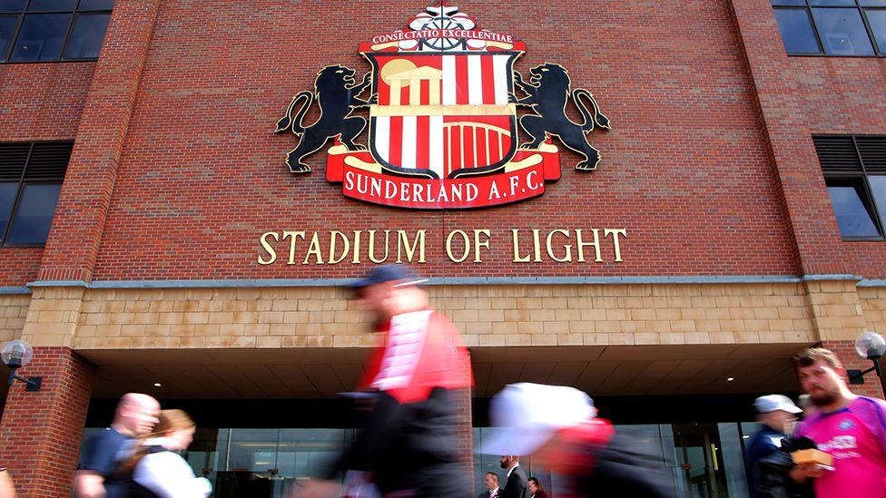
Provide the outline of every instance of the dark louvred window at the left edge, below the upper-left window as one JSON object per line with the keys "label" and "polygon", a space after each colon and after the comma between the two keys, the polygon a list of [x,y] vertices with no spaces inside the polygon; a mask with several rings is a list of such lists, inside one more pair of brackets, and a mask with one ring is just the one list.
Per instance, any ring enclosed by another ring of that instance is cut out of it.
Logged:
{"label": "dark louvred window at the left edge, below the upper-left window", "polygon": [[46,243],[74,142],[0,143],[0,244]]}

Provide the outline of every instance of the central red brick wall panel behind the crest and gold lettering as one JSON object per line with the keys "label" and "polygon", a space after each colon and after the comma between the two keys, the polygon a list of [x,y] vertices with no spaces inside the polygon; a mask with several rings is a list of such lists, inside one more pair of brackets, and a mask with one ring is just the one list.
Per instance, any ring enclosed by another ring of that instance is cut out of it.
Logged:
{"label": "central red brick wall panel behind the crest and gold lettering", "polygon": [[[282,229],[427,228],[422,271],[437,277],[797,272],[752,82],[721,3],[460,5],[481,27],[527,42],[518,70],[563,63],[614,123],[591,137],[603,154],[599,170],[577,173],[567,153],[563,179],[540,199],[468,212],[393,210],[345,200],[325,181],[322,154],[312,174],[288,172],[294,137],[271,130],[291,95],[310,88],[325,64],[367,71],[358,44],[404,27],[423,5],[163,2],[95,278],[360,271],[260,267],[259,236]],[[508,229],[605,227],[628,229],[624,263],[511,263]],[[446,262],[445,233],[475,228],[494,231],[484,263]]]}

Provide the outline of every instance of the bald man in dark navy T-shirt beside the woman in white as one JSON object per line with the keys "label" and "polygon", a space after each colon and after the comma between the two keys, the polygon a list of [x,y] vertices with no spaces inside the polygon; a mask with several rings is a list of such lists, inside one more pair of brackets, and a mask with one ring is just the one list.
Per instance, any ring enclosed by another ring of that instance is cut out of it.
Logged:
{"label": "bald man in dark navy T-shirt beside the woman in white", "polygon": [[151,432],[160,415],[160,403],[149,395],[129,393],[120,398],[111,426],[84,444],[79,470],[74,475],[78,498],[128,496],[128,476],[120,464],[132,455],[135,438]]}

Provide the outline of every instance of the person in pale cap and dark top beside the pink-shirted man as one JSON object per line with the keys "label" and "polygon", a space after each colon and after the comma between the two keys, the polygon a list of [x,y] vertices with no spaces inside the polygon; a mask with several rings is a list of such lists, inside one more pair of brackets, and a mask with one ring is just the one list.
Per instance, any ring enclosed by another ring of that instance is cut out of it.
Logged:
{"label": "person in pale cap and dark top beside the pink-shirted man", "polygon": [[760,396],[754,400],[753,407],[757,411],[760,426],[747,445],[748,483],[753,498],[764,498],[772,494],[769,491],[763,493],[759,489],[762,472],[760,462],[778,452],[783,437],[793,432],[797,414],[802,410],[785,395]]}

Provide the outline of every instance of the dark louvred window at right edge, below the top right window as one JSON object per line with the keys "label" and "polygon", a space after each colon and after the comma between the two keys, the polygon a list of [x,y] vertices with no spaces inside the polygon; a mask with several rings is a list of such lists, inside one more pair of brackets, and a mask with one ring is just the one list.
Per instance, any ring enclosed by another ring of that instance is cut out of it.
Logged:
{"label": "dark louvred window at right edge, below the top right window", "polygon": [[812,137],[843,239],[886,236],[886,137]]}

